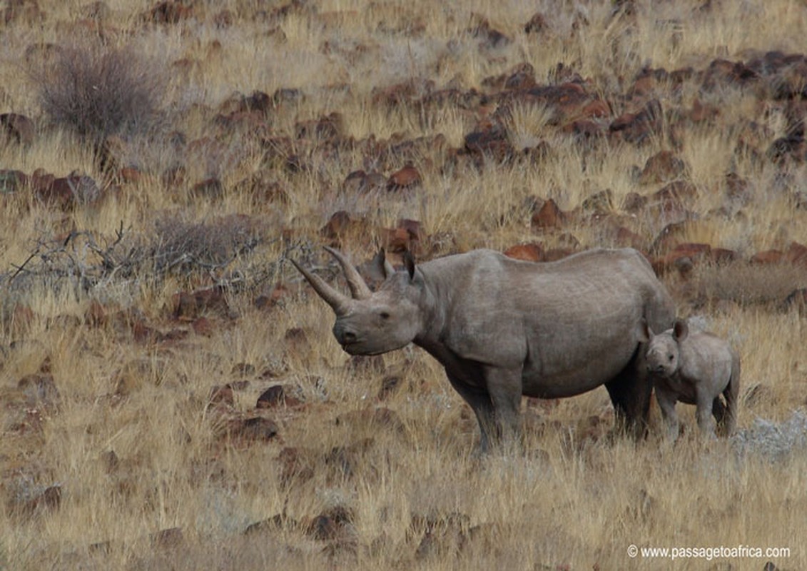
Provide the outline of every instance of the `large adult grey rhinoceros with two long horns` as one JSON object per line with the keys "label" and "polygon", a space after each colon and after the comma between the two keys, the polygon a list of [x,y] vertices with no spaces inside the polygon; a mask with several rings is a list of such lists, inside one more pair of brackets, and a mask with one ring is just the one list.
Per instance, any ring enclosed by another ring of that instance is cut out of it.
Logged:
{"label": "large adult grey rhinoceros with two long horns", "polygon": [[571,397],[605,385],[617,418],[646,430],[652,386],[639,351],[642,322],[665,330],[675,308],[636,250],[588,250],[522,262],[473,250],[394,271],[375,292],[337,250],[351,296],[295,263],[332,307],[334,337],[351,355],[414,342],[445,367],[474,410],[480,446],[520,432],[521,396]]}

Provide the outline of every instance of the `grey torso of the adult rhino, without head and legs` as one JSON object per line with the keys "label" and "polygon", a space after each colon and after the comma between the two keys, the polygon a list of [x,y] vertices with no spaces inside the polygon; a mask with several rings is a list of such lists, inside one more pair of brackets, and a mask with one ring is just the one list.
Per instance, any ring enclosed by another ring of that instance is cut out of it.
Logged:
{"label": "grey torso of the adult rhino, without head and legs", "polygon": [[649,310],[663,329],[671,324],[672,301],[635,250],[590,250],[546,264],[491,250],[464,255],[454,266],[424,269],[452,279],[440,288],[445,344],[464,359],[523,365],[525,394],[596,387],[629,362]]}

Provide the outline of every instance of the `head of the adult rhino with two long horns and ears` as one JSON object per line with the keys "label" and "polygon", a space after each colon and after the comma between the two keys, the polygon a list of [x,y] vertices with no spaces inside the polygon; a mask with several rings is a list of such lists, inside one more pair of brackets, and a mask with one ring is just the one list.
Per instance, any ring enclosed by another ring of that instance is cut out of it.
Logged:
{"label": "head of the adult rhino with two long horns and ears", "polygon": [[333,336],[342,349],[350,355],[379,355],[412,342],[423,327],[420,300],[424,292],[423,276],[416,271],[412,257],[404,257],[407,271],[396,272],[383,251],[379,253],[374,261],[385,279],[372,292],[341,252],[328,247],[325,250],[337,258],[350,296],[332,288],[294,260],[291,262],[336,313]]}

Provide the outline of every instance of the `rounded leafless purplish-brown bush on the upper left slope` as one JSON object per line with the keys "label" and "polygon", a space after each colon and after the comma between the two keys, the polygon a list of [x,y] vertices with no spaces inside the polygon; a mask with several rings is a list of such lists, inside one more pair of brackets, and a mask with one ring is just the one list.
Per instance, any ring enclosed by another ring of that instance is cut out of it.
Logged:
{"label": "rounded leafless purplish-brown bush on the upper left slope", "polygon": [[133,48],[70,46],[36,76],[44,112],[92,143],[144,132],[157,118],[165,77]]}

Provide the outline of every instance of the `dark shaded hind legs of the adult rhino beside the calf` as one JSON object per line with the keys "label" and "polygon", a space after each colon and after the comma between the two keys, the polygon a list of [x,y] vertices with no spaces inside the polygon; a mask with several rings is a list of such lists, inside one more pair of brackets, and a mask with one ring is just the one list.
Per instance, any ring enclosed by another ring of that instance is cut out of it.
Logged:
{"label": "dark shaded hind legs of the adult rhino beside the calf", "polygon": [[645,438],[648,433],[650,396],[653,393],[653,384],[645,367],[639,363],[639,355],[637,349],[627,366],[605,383],[613,404],[617,430],[637,440]]}

